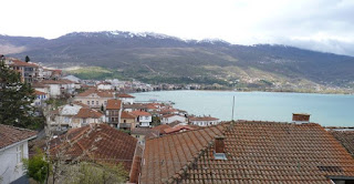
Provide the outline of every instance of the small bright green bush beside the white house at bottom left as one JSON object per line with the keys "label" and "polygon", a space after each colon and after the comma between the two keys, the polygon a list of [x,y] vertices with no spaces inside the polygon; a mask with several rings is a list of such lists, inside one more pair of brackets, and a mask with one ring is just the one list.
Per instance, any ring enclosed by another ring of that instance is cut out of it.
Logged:
{"label": "small bright green bush beside the white house at bottom left", "polygon": [[33,157],[23,159],[23,166],[27,175],[38,183],[44,183],[50,171],[50,164],[44,160],[44,153],[40,149]]}

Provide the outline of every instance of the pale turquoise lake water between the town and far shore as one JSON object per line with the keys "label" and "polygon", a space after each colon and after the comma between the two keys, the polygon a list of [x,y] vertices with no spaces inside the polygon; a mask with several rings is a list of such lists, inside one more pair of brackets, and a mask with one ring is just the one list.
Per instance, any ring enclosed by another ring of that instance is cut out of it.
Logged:
{"label": "pale turquoise lake water between the town and far shore", "polygon": [[219,91],[159,91],[134,93],[136,101],[171,101],[174,108],[189,114],[211,115],[222,121],[262,120],[291,122],[292,113],[310,113],[311,122],[329,126],[354,126],[354,95],[219,92]]}

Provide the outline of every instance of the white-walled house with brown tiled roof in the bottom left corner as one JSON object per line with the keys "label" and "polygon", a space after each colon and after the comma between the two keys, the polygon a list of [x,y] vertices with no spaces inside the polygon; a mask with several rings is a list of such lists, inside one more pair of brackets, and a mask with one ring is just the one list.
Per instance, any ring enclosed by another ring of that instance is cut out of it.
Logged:
{"label": "white-walled house with brown tiled roof in the bottom left corner", "polygon": [[1,183],[25,183],[22,159],[29,157],[28,142],[35,136],[34,131],[0,124]]}

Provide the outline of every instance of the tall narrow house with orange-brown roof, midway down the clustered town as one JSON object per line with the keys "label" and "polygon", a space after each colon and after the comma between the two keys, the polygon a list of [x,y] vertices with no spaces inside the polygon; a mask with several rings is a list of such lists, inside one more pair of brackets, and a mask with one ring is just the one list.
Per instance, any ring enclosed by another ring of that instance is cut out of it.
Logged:
{"label": "tall narrow house with orange-brown roof, midway down the clustered town", "polygon": [[119,129],[122,116],[122,101],[116,99],[107,100],[106,105],[106,122],[113,126]]}

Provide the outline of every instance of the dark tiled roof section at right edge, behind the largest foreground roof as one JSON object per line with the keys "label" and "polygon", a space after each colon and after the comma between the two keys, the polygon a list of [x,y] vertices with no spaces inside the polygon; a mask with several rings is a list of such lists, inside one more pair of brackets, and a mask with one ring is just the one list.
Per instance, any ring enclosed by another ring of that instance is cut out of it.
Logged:
{"label": "dark tiled roof section at right edge, behind the largest foreground roof", "polygon": [[354,157],[354,130],[331,131],[332,135],[341,142],[346,151]]}

